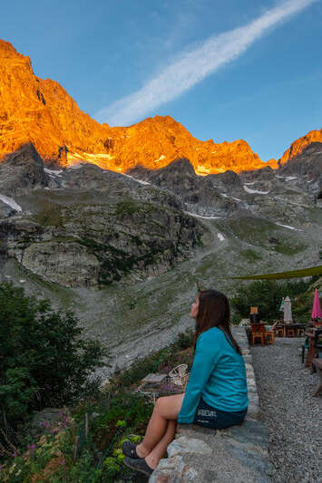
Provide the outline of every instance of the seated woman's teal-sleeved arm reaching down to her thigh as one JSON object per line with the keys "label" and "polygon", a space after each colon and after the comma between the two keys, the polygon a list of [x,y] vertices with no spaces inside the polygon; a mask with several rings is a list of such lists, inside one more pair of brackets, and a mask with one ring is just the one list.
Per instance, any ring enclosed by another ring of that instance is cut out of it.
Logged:
{"label": "seated woman's teal-sleeved arm reaching down to her thigh", "polygon": [[196,353],[191,367],[190,378],[182,402],[178,422],[190,423],[200,401],[201,392],[206,386],[211,372],[220,357],[217,333],[201,333],[196,346]]}

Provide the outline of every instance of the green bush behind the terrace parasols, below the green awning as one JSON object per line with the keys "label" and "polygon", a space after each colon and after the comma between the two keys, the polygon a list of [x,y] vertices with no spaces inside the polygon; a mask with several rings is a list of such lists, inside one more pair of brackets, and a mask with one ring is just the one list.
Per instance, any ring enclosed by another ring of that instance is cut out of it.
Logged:
{"label": "green bush behind the terrace parasols, below the green awning", "polygon": [[[259,307],[259,314],[263,320],[278,318],[279,306],[282,297],[294,298],[296,295],[305,293],[312,281],[304,282],[278,282],[276,280],[264,280],[242,285],[231,298],[231,305],[235,311],[234,317],[246,318],[249,316],[250,306]],[[297,314],[296,304],[293,304],[293,312]]]}

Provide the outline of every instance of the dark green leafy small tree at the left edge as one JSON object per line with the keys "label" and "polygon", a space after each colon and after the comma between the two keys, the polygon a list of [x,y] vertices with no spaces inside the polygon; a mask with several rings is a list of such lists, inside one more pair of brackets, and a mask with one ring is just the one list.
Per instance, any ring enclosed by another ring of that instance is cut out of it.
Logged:
{"label": "dark green leafy small tree at the left edge", "polygon": [[106,356],[84,341],[72,312],[0,284],[0,426],[25,420],[45,406],[73,403]]}

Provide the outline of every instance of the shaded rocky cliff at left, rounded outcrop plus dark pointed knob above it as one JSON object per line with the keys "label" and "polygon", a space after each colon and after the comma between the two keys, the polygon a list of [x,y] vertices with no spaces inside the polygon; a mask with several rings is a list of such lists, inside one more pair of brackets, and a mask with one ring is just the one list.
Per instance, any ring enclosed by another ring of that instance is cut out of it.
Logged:
{"label": "shaded rocky cliff at left, rounded outcrop plus dark pointed knob above it", "polygon": [[200,245],[204,228],[179,199],[130,177],[93,165],[46,169],[30,143],[0,176],[2,253],[46,280],[102,286],[160,275]]}

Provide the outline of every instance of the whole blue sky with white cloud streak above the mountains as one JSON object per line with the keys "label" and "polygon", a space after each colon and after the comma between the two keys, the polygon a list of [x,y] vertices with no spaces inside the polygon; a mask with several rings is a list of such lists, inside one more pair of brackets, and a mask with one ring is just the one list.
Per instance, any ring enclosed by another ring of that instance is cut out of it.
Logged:
{"label": "whole blue sky with white cloud streak above the mountains", "polygon": [[322,0],[16,0],[0,38],[110,125],[170,115],[263,160],[322,126]]}

